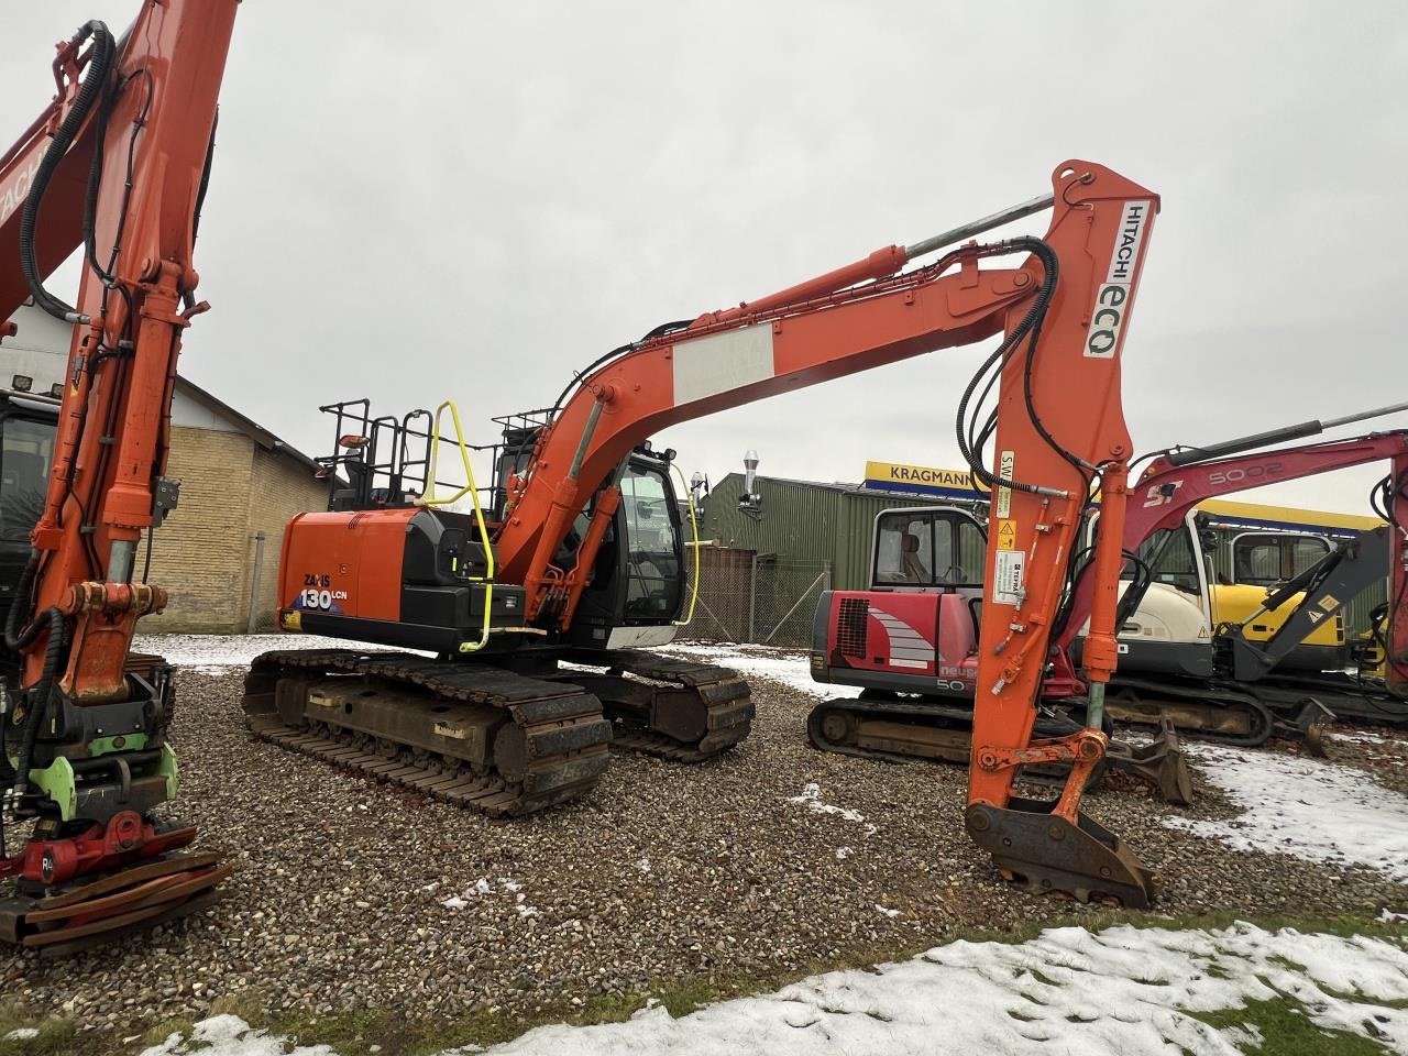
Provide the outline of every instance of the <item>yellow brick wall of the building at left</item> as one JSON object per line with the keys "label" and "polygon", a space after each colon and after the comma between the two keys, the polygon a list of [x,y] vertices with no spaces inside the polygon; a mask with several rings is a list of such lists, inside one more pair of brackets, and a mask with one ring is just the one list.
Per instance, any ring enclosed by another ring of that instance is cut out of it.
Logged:
{"label": "yellow brick wall of the building at left", "polygon": [[[138,625],[146,634],[237,634],[249,620],[255,532],[265,532],[259,629],[273,627],[279,551],[287,520],[327,508],[327,484],[290,455],[244,432],[177,425],[166,476],[179,479],[180,505],[156,531],[151,582],[170,604]],[[138,551],[138,569],[145,558]]]}

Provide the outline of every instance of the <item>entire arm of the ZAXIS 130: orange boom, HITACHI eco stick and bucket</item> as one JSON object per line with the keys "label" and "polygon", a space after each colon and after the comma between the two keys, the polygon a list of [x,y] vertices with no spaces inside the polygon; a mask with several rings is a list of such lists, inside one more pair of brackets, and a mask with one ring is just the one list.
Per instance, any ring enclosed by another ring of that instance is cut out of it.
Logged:
{"label": "entire arm of the ZAXIS 130: orange boom, HITACHI eco stick and bucket", "polygon": [[[977,413],[998,386],[993,417],[972,429],[959,428],[974,470],[994,486],[995,528],[969,829],[994,850],[1004,870],[1038,886],[1146,904],[1152,897],[1148,870],[1114,836],[1079,815],[1080,790],[1107,743],[1098,693],[1093,728],[1038,745],[1031,743],[1031,734],[1052,621],[1073,566],[1081,510],[1097,480],[1104,483],[1108,535],[1095,559],[1097,632],[1088,677],[1101,684],[1115,663],[1122,498],[1131,456],[1119,353],[1159,200],[1108,169],[1071,161],[1056,169],[1049,200],[967,225],[962,237],[1046,204],[1053,214],[1041,239],[967,242],[911,272],[900,269],[952,239],[888,246],[772,297],[701,315],[621,349],[583,376],[572,397],[555,408],[525,472],[508,482],[496,538],[500,574],[524,584],[529,620],[565,628],[620,501],[622,465],[648,436],[766,396],[1002,334],[987,360],[995,373],[986,382],[976,377],[960,404],[960,418],[969,410]],[[980,266],[1012,253],[1025,255],[1019,268]],[[997,460],[984,466],[981,451],[994,428]],[[587,508],[591,520],[573,559],[556,563],[569,528]],[[1041,807],[1015,801],[1015,769],[1048,760],[1076,763],[1060,801]],[[1010,818],[1035,821],[1035,828]],[[1057,855],[1062,865],[1048,867],[1043,862],[1060,848],[1041,834],[1059,825],[1074,834],[1066,846],[1081,845],[1084,859]],[[1033,841],[1033,832],[1039,839]],[[1017,857],[1002,850],[1014,841]]]}

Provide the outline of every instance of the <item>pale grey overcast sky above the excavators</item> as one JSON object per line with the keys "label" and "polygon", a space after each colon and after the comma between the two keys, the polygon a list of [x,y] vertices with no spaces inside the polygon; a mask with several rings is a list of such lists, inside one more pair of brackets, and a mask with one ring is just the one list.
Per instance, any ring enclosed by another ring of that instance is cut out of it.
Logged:
{"label": "pale grey overcast sky above the excavators", "polygon": [[[3,141],[48,100],[54,41],[94,17],[120,32],[138,4],[7,7]],[[1087,158],[1163,196],[1125,345],[1135,444],[1225,439],[1408,400],[1405,135],[1401,3],[245,0],[196,248],[214,311],[182,372],[308,453],[331,441],[318,404],[359,396],[455,397],[489,441],[490,415],[662,321]],[[746,448],[817,480],[957,466],[980,355],[660,439],[714,479]],[[1247,498],[1367,511],[1380,474]]]}

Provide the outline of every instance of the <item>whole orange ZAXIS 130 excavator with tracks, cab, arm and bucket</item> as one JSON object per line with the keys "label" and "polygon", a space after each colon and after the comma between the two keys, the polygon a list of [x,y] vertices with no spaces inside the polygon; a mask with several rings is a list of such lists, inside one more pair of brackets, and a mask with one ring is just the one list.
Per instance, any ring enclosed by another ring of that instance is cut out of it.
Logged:
{"label": "whole orange ZAXIS 130 excavator with tracks, cab, arm and bucket", "polygon": [[[752,705],[732,672],[639,648],[669,641],[684,605],[681,546],[659,531],[679,517],[665,472],[673,452],[652,451],[650,436],[1002,335],[960,403],[960,444],[994,489],[1000,525],[988,548],[969,831],[1039,890],[1146,904],[1150,873],[1079,803],[1107,745],[1100,690],[1117,658],[1131,458],[1119,352],[1159,203],[1081,161],[1059,166],[1053,186],[943,235],[658,327],[603,356],[553,407],[498,420],[504,442],[487,510],[452,406],[404,418],[375,418],[366,401],[325,408],[339,441],[325,465],[351,486],[329,511],[289,524],[280,624],[422,652],[265,655],[246,680],[251,728],[493,815],[582,796],[605,770],[612,741],[681,760],[738,743]],[[969,241],[1046,208],[1043,238]],[[938,260],[905,270],[941,249]],[[1025,258],[1015,268],[983,266],[1014,255]],[[442,496],[435,466],[449,420],[469,483]],[[1088,576],[1090,719],[1033,741],[1048,639],[1097,486],[1104,524]],[[445,508],[466,496],[472,513]],[[1070,766],[1059,800],[1014,798],[1014,772],[1043,763]]]}

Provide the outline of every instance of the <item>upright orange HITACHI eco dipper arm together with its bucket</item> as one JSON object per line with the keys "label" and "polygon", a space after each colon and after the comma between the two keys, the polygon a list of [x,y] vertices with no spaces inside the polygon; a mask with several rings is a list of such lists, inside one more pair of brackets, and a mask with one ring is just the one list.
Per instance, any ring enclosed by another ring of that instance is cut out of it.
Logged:
{"label": "upright orange HITACHI eco dipper arm together with its bucket", "polygon": [[[1007,341],[987,365],[997,373],[997,408],[983,415],[981,386],[993,377],[980,372],[959,411],[960,451],[991,487],[966,824],[1000,869],[1033,890],[1146,905],[1156,893],[1152,873],[1079,805],[1108,743],[1102,691],[1118,656],[1131,458],[1121,352],[1159,199],[1112,172],[1067,162],[1056,172],[1056,200],[1067,208],[1031,262],[1042,297],[1010,321]],[[995,458],[987,465],[990,436]],[[1087,728],[1033,743],[1053,620],[1097,484],[1104,525],[1091,573]],[[1060,797],[1014,797],[1017,767],[1043,762],[1070,763]]]}

